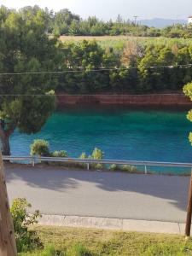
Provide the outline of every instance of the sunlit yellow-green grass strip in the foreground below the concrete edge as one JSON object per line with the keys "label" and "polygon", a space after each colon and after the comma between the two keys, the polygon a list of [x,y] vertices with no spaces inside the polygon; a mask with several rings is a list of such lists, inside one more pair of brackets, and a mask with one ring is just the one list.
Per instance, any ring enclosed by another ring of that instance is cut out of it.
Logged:
{"label": "sunlit yellow-green grass strip in the foreground below the concrete edge", "polygon": [[192,240],[185,241],[184,236],[42,226],[35,229],[44,252],[20,256],[192,255]]}

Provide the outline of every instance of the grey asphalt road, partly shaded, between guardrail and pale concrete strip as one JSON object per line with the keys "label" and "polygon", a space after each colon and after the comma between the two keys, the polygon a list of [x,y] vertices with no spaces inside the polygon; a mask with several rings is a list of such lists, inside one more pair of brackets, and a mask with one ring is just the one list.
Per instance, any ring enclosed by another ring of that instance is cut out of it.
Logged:
{"label": "grey asphalt road, partly shaded, between guardrail and pale concrete strip", "polygon": [[44,214],[185,221],[189,177],[6,166],[9,200]]}

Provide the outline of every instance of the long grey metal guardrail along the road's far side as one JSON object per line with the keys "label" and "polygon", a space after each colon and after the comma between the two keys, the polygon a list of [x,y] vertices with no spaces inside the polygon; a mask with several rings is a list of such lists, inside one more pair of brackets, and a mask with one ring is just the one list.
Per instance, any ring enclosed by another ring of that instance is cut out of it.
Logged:
{"label": "long grey metal guardrail along the road's far side", "polygon": [[144,166],[145,174],[148,173],[148,166],[161,167],[183,167],[191,168],[192,163],[176,163],[176,162],[155,162],[155,161],[137,161],[137,160],[95,160],[95,159],[79,159],[66,157],[43,157],[43,156],[6,156],[3,155],[3,160],[9,161],[28,161],[35,166],[39,162],[67,162],[86,164],[87,169],[90,169],[90,164],[106,164],[106,165],[129,165],[129,166]]}

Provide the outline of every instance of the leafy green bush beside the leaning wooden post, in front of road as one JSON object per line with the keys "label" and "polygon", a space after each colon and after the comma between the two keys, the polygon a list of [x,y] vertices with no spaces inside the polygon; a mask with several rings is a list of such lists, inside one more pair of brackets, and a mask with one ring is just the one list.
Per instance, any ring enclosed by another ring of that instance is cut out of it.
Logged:
{"label": "leafy green bush beside the leaning wooden post, in front of road", "polygon": [[32,224],[38,224],[38,218],[41,217],[39,211],[35,211],[32,214],[27,213],[30,207],[32,207],[31,204],[25,198],[18,198],[13,201],[10,209],[14,222],[18,253],[43,247],[36,231],[28,229]]}

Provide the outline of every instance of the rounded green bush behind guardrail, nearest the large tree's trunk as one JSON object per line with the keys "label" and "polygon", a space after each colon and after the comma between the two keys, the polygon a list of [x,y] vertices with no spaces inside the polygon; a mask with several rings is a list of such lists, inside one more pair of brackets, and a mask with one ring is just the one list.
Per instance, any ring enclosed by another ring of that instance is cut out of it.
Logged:
{"label": "rounded green bush behind guardrail, nearest the large tree's trunk", "polygon": [[31,145],[31,155],[49,156],[49,143],[45,140],[34,140]]}

